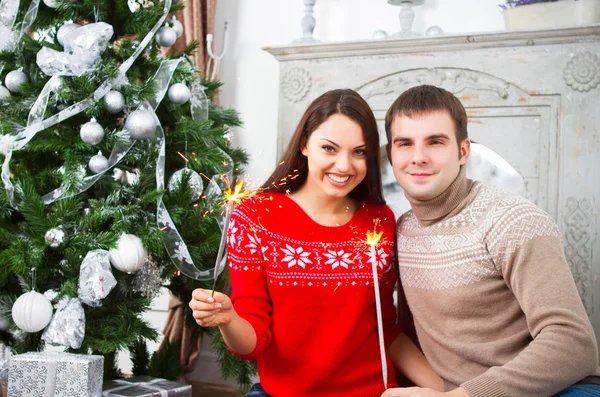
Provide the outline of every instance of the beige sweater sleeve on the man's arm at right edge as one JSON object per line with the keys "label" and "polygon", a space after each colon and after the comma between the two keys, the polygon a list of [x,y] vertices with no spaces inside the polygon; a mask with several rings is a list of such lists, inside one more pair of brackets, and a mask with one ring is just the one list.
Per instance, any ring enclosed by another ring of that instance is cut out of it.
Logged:
{"label": "beige sweater sleeve on the man's arm at right edge", "polygon": [[505,365],[461,386],[471,397],[554,395],[596,370],[594,331],[552,218],[524,199],[513,199],[500,203],[494,219],[486,236],[488,251],[533,340]]}

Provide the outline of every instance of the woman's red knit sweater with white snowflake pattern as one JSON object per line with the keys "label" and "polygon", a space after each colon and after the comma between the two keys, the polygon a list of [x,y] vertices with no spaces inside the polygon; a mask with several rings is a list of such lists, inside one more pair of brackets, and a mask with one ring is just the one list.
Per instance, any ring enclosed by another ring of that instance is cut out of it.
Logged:
{"label": "woman's red knit sweater with white snowflake pattern", "polygon": [[[371,251],[367,231],[383,235]],[[384,337],[396,325],[392,293],[395,219],[385,205],[362,203],[350,221],[314,222],[291,198],[259,194],[239,205],[228,230],[231,299],[252,324],[260,381],[273,397],[383,393],[371,262],[378,269]],[[389,380],[393,366],[387,358]]]}

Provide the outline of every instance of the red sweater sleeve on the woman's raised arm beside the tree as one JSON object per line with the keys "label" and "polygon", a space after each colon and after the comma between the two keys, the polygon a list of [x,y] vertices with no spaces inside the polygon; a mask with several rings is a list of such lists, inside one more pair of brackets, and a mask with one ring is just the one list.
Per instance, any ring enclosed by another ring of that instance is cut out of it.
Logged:
{"label": "red sweater sleeve on the woman's raised arm beside the tree", "polygon": [[245,360],[260,357],[271,340],[272,306],[263,258],[265,246],[259,231],[246,211],[237,208],[231,215],[227,242],[231,302],[237,314],[254,328],[257,343],[249,354],[241,355],[230,350]]}

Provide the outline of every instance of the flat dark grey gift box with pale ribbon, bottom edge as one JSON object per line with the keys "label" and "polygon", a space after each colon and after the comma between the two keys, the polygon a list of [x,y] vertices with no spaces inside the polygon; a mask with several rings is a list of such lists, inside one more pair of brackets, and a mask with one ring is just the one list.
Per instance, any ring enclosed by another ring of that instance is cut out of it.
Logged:
{"label": "flat dark grey gift box with pale ribbon, bottom edge", "polygon": [[192,397],[192,386],[150,376],[106,382],[103,397]]}

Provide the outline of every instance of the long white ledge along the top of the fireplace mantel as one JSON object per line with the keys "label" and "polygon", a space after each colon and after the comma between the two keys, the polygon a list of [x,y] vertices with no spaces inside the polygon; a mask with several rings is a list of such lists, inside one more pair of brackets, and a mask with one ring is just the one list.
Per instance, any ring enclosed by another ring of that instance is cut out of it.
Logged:
{"label": "long white ledge along the top of the fireplace mantel", "polygon": [[565,29],[425,36],[396,40],[361,40],[315,45],[264,47],[263,49],[278,61],[294,61],[577,43],[598,40],[599,36],[600,25],[592,25]]}

